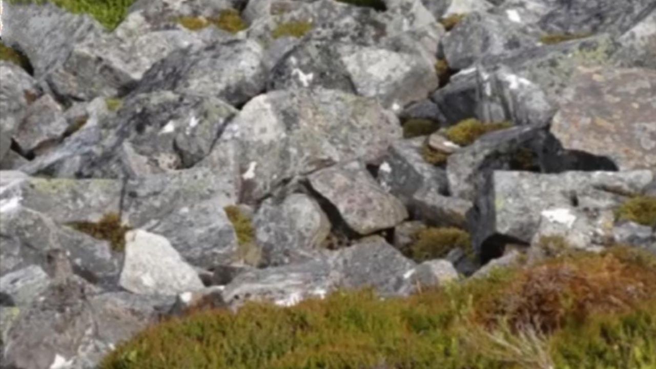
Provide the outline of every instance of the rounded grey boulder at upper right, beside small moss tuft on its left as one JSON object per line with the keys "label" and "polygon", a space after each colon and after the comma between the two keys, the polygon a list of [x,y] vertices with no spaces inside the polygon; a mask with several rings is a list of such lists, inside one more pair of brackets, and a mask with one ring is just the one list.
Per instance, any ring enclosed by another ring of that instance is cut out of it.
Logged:
{"label": "rounded grey boulder at upper right, beside small moss tuft on its left", "polygon": [[451,30],[442,45],[449,67],[462,70],[485,56],[509,55],[533,46],[522,28],[502,16],[474,12]]}

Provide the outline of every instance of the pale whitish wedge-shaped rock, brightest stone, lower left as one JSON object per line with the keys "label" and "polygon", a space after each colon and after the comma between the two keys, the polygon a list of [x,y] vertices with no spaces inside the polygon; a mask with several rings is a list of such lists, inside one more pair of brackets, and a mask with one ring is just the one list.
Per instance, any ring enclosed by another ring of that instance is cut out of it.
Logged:
{"label": "pale whitish wedge-shaped rock, brightest stone, lower left", "polygon": [[142,295],[176,295],[203,288],[194,269],[166,238],[133,230],[125,235],[125,240],[121,287]]}

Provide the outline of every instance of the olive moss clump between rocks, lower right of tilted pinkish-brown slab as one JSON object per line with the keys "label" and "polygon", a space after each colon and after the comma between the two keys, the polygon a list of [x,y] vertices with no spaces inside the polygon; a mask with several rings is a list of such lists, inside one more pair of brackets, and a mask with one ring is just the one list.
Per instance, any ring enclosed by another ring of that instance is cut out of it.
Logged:
{"label": "olive moss clump between rocks, lower right of tilted pinkish-brown slab", "polygon": [[472,255],[472,240],[467,232],[454,227],[419,230],[417,240],[410,246],[411,257],[421,262],[445,257],[449,251],[461,248]]}

